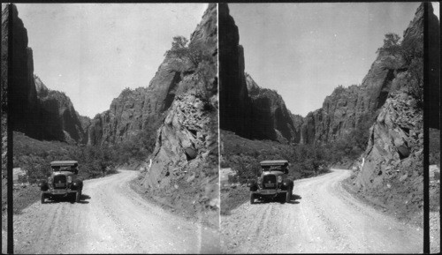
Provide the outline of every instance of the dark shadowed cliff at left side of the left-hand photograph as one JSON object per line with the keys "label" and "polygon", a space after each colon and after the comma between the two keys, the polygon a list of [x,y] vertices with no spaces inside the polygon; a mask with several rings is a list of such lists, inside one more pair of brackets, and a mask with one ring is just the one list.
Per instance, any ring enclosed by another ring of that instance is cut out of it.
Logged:
{"label": "dark shadowed cliff at left side of the left-hand photograph", "polygon": [[[27,29],[19,19],[17,7],[10,6],[2,13],[2,29],[11,26],[11,77],[8,85],[12,129],[34,139],[81,142],[85,132],[71,100],[63,93],[49,90],[34,76],[33,51],[27,47]],[[12,23],[4,23],[9,15]]]}

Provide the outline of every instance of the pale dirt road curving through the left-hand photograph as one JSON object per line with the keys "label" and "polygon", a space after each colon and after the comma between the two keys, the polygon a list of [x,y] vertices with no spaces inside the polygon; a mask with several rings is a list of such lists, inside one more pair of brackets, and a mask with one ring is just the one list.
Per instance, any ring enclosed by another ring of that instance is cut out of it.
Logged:
{"label": "pale dirt road curving through the left-hand photograph", "polygon": [[14,215],[15,253],[219,252],[216,229],[152,206],[129,188],[135,171],[85,181],[80,204],[40,202]]}

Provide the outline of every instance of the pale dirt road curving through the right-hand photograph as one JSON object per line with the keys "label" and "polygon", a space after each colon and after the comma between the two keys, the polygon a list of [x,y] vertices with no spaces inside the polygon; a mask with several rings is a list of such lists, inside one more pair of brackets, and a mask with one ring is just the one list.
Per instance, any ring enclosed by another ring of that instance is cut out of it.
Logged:
{"label": "pale dirt road curving through the right-hand photograph", "polygon": [[295,181],[293,199],[245,203],[221,217],[224,252],[402,253],[423,251],[423,229],[354,199],[341,186],[348,170]]}

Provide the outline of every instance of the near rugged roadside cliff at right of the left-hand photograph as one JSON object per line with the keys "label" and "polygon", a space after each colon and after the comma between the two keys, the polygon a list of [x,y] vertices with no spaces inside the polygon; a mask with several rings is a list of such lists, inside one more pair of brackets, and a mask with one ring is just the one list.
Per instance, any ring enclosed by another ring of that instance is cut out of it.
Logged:
{"label": "near rugged roadside cliff at right of the left-hand photograph", "polygon": [[[165,117],[157,130],[155,150],[141,166],[138,184],[152,197],[161,197],[172,207],[193,212],[210,222],[213,218],[210,215],[217,214],[219,208],[217,4],[209,4],[190,43],[199,44],[207,57],[196,67],[177,64],[177,68],[187,71],[179,73],[174,85],[177,93],[170,101],[166,100],[167,109],[159,108],[164,110]],[[162,64],[158,72],[164,72],[164,68],[168,66]],[[168,80],[159,82],[158,86],[170,91]],[[217,225],[217,222],[210,224]]]}

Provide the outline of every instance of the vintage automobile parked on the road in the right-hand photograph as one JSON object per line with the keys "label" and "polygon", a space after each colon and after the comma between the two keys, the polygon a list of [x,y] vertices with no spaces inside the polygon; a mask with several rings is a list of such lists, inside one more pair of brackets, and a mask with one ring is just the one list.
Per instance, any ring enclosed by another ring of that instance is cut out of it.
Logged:
{"label": "vintage automobile parked on the road in the right-hand photograph", "polygon": [[257,180],[249,180],[250,204],[255,199],[282,198],[289,202],[292,198],[293,179],[288,176],[288,161],[261,161]]}

